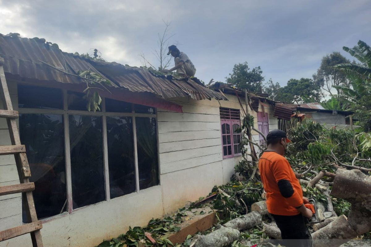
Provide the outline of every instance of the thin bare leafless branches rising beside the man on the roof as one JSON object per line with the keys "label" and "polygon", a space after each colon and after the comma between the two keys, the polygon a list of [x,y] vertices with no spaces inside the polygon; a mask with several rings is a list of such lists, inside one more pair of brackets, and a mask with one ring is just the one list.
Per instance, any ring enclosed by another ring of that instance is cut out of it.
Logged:
{"label": "thin bare leafless branches rising beside the man on the roof", "polygon": [[158,68],[158,71],[164,70],[170,66],[171,56],[167,54],[167,47],[169,46],[169,39],[174,36],[174,34],[169,34],[170,22],[162,20],[165,24],[165,30],[162,34],[157,34],[157,49],[154,49],[153,54],[155,55],[158,66],[154,66],[145,58],[144,53],[139,54],[142,57],[142,65],[144,67],[152,67],[152,69]]}

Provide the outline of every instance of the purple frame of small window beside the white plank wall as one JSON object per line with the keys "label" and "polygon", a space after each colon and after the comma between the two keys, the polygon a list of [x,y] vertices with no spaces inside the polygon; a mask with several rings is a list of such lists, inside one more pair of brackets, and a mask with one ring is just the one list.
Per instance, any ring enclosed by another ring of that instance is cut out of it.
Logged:
{"label": "purple frame of small window beside the white plank wall", "polygon": [[[236,112],[236,111],[240,111],[239,109],[232,109],[232,108],[224,108],[224,107],[220,107],[220,111],[226,111],[228,110],[229,113],[227,114],[220,114],[220,133],[221,133],[221,155],[223,156],[223,159],[225,158],[232,158],[232,157],[236,157],[236,156],[241,156],[242,153],[234,153],[234,145],[236,144],[240,144],[240,143],[234,143],[233,141],[233,135],[236,135],[233,133],[233,124],[238,124],[238,126],[241,127],[241,120],[240,120],[240,117],[238,116],[238,119],[236,119],[236,116],[233,117],[233,114],[231,112]],[[227,116],[227,118],[225,118]],[[232,116],[232,117],[231,117]],[[229,134],[223,134],[223,124],[229,124],[229,128],[230,128],[230,133]],[[223,136],[230,136],[230,139],[231,139],[231,144],[223,144]],[[242,140],[242,136],[240,134],[240,140]],[[231,146],[232,148],[232,154],[230,155],[224,155],[224,150],[223,148],[225,146]]]}

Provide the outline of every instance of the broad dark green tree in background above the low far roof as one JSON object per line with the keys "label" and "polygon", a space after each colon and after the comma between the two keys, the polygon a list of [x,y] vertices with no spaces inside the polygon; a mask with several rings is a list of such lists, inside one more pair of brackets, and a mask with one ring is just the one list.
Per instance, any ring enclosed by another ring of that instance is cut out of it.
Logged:
{"label": "broad dark green tree in background above the low far roof", "polygon": [[321,85],[312,79],[290,79],[287,86],[280,87],[275,100],[283,103],[310,103],[318,102],[323,97]]}

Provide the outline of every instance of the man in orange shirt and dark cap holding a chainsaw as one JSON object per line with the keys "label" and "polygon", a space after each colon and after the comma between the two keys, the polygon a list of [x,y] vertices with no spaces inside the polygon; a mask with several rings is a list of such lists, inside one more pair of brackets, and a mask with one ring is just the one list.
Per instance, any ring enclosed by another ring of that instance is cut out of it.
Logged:
{"label": "man in orange shirt and dark cap holding a chainsaw", "polygon": [[290,239],[287,246],[312,246],[312,236],[304,221],[304,217],[312,217],[312,211],[304,206],[309,201],[303,197],[299,180],[283,157],[288,142],[290,140],[284,131],[270,131],[267,134],[267,150],[259,159],[267,208],[281,230],[282,239]]}

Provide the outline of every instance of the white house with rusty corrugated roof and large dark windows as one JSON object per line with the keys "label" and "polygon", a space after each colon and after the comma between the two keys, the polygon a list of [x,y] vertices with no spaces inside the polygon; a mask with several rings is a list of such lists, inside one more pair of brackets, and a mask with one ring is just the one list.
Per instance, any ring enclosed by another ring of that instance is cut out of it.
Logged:
{"label": "white house with rusty corrugated roof and large dark windows", "polygon": [[[196,78],[83,58],[38,38],[0,34],[0,56],[20,113],[44,246],[94,246],[144,226],[227,183],[241,159],[235,130],[244,95],[209,90]],[[101,111],[86,110],[84,81],[40,61],[112,81],[109,92],[99,90]],[[256,111],[263,102],[253,99]],[[256,111],[249,110],[257,120]],[[267,113],[270,121],[273,110]],[[0,120],[0,145],[9,145]],[[1,156],[0,186],[17,183],[13,155]],[[22,214],[21,194],[0,197],[0,230],[21,225]],[[0,246],[32,244],[26,234]]]}

